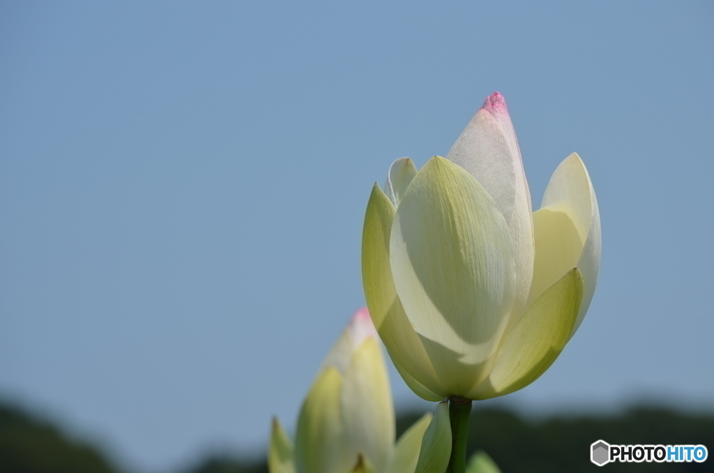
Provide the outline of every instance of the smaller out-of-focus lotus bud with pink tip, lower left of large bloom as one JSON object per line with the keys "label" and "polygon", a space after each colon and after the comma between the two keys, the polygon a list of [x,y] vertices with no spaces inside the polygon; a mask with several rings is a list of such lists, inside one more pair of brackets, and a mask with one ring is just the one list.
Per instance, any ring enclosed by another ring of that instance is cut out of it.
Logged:
{"label": "smaller out-of-focus lotus bud with pink tip, lower left of large bloom", "polygon": [[[268,469],[271,473],[421,472],[416,469],[418,461],[443,457],[444,452],[430,442],[421,452],[431,419],[426,414],[394,444],[386,365],[367,309],[361,309],[328,353],[303,402],[294,445],[273,420]],[[443,415],[440,419],[440,426],[446,424],[448,429],[448,412],[446,420]],[[438,431],[441,437],[443,430]],[[420,460],[420,452],[426,459]]]}

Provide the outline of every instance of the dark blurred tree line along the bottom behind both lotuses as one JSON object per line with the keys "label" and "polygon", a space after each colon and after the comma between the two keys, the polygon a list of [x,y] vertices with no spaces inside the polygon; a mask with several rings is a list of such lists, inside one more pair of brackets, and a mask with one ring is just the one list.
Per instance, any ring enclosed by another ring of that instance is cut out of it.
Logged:
{"label": "dark blurred tree line along the bottom behind both lotuses", "polygon": [[[642,407],[607,417],[570,416],[534,421],[503,409],[473,409],[469,445],[483,449],[503,473],[594,472],[590,444],[704,444],[714,448],[714,414],[683,414]],[[401,434],[421,413],[398,417]],[[266,421],[267,422],[267,421]],[[695,463],[607,464],[608,472],[714,472],[714,460]],[[71,439],[58,427],[21,409],[0,404],[0,472],[134,473],[111,464],[100,449]],[[255,459],[206,457],[176,473],[266,473],[263,452]]]}

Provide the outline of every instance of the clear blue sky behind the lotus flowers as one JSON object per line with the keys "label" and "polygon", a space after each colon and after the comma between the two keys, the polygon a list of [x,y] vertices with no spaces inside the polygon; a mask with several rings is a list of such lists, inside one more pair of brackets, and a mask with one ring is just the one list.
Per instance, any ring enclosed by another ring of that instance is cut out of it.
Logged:
{"label": "clear blue sky behind the lotus flowers", "polygon": [[364,303],[373,182],[498,90],[534,206],[578,151],[603,225],[588,317],[501,402],[714,409],[713,26],[710,1],[4,1],[0,396],[147,472],[261,452]]}

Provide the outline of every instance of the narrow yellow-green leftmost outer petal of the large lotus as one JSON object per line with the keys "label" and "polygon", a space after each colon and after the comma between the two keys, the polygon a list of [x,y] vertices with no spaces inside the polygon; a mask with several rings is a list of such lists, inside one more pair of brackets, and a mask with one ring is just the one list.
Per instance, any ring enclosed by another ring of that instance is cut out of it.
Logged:
{"label": "narrow yellow-green leftmost outer petal of the large lotus", "polygon": [[[375,184],[362,234],[362,279],[367,306],[379,337],[400,372],[407,372],[441,399],[447,394],[394,288],[389,267],[389,233],[394,212],[394,206]],[[420,392],[416,394],[421,396]]]}

